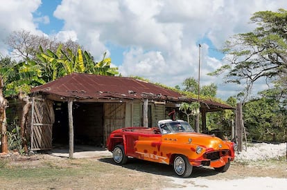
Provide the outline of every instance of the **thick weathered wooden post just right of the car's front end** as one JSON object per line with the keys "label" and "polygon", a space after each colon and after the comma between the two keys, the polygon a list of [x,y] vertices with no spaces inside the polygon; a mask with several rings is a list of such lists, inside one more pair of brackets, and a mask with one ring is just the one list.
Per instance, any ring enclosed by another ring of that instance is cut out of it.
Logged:
{"label": "thick weathered wooden post just right of the car's front end", "polygon": [[236,105],[236,123],[235,123],[235,137],[237,139],[238,151],[242,151],[243,142],[243,116],[242,116],[242,104]]}

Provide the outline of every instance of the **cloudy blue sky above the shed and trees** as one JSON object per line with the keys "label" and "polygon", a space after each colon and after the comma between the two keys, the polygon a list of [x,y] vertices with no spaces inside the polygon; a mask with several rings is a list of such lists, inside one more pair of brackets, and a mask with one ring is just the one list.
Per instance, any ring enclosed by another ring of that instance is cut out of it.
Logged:
{"label": "cloudy blue sky above the shed and trees", "polygon": [[[1,2],[3,1],[3,2]],[[167,86],[198,77],[214,83],[227,99],[243,86],[207,75],[225,64],[217,49],[234,34],[249,32],[249,19],[260,10],[286,9],[285,0],[0,0],[0,55],[12,31],[28,30],[60,41],[77,41],[95,57],[104,52],[123,76],[136,75]],[[176,3],[175,3],[176,2]],[[255,84],[254,91],[266,85]]]}

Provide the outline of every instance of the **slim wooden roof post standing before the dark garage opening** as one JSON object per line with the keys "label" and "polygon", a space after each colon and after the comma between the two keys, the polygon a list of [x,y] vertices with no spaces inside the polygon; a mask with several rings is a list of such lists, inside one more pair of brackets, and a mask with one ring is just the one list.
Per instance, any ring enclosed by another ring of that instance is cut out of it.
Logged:
{"label": "slim wooden roof post standing before the dark garage opening", "polygon": [[68,101],[69,112],[69,158],[73,158],[73,99]]}

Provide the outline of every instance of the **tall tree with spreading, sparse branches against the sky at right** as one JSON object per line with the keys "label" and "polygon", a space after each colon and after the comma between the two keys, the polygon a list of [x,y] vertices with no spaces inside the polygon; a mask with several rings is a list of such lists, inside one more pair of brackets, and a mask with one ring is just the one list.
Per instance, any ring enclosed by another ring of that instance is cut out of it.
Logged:
{"label": "tall tree with spreading, sparse branches against the sky at right", "polygon": [[226,41],[227,64],[211,73],[227,71],[226,82],[244,82],[245,98],[259,79],[277,80],[287,73],[287,11],[255,12],[250,20],[257,28]]}

